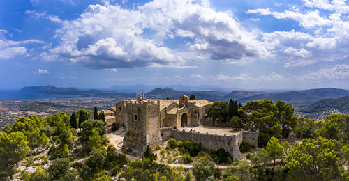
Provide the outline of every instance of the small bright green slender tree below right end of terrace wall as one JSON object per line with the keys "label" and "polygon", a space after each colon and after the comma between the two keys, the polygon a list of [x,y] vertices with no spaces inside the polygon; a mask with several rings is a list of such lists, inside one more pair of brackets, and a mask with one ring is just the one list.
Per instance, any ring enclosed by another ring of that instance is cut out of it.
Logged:
{"label": "small bright green slender tree below right end of terrace wall", "polygon": [[280,145],[278,139],[272,137],[272,139],[270,139],[270,141],[267,143],[265,150],[267,151],[269,157],[271,157],[274,160],[272,168],[274,170],[276,165],[276,159],[282,159],[283,157],[285,157],[283,146]]}

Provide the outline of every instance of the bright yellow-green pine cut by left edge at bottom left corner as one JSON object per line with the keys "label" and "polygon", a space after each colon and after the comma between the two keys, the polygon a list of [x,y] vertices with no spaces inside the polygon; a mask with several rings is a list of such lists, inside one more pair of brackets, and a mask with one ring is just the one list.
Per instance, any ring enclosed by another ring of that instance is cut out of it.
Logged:
{"label": "bright yellow-green pine cut by left edge at bottom left corner", "polygon": [[22,132],[0,133],[0,178],[12,178],[13,166],[29,152],[28,141]]}

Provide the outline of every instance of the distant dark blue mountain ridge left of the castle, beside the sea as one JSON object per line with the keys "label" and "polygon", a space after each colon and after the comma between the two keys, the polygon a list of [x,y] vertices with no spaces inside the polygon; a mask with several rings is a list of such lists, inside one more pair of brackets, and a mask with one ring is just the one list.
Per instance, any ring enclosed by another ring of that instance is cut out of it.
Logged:
{"label": "distant dark blue mountain ridge left of the castle, beside the sea", "polygon": [[55,86],[26,86],[22,93],[45,93],[55,95],[76,95],[77,97],[135,97],[133,93],[118,93],[116,91],[100,91],[96,89],[80,90],[79,88],[57,88]]}

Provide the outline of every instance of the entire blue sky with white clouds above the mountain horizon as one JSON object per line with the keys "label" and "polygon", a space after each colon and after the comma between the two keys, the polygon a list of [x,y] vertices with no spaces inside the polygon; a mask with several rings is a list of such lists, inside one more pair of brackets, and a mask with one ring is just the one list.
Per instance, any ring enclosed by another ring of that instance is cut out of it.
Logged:
{"label": "entire blue sky with white clouds above the mountain horizon", "polygon": [[349,89],[346,0],[2,0],[0,89]]}

